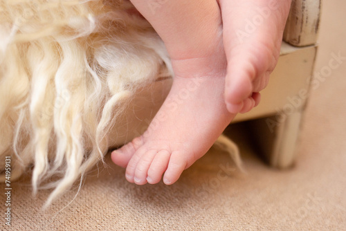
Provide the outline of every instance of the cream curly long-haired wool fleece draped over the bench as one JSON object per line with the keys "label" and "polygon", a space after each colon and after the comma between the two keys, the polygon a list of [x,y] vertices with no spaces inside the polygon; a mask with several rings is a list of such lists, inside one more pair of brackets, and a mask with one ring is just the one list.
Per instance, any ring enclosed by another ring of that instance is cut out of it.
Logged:
{"label": "cream curly long-haired wool fleece draped over the bench", "polygon": [[170,67],[163,42],[132,8],[0,0],[0,170],[6,156],[12,180],[33,166],[34,192],[58,176],[46,205],[103,160],[131,95]]}

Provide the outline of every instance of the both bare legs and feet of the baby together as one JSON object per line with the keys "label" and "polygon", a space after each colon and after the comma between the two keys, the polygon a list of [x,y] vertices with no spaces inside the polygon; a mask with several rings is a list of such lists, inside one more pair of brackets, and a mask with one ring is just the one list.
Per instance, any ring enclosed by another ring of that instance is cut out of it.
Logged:
{"label": "both bare legs and feet of the baby together", "polygon": [[[206,153],[233,113],[260,102],[291,0],[132,2],[165,42],[176,77],[149,129],[112,159],[127,167],[130,182],[157,183],[165,173],[164,182],[171,184]],[[172,110],[171,102],[194,80],[201,80],[196,90]]]}

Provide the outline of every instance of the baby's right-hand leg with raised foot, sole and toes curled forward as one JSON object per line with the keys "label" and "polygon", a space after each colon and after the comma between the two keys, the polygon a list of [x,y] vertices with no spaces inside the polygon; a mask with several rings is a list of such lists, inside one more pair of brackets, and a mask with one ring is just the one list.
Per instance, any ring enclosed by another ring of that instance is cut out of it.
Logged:
{"label": "baby's right-hand leg with raised foot, sole and toes curled forward", "polygon": [[260,102],[260,91],[280,55],[291,0],[220,0],[228,60],[228,111],[245,113]]}

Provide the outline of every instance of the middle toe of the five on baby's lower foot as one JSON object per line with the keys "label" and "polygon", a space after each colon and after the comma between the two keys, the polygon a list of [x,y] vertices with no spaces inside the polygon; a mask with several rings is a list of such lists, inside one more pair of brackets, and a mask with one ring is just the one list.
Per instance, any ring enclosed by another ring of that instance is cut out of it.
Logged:
{"label": "middle toe of the five on baby's lower foot", "polygon": [[158,151],[156,150],[150,150],[140,158],[134,172],[134,183],[137,185],[145,185],[147,183],[148,169],[157,153]]}

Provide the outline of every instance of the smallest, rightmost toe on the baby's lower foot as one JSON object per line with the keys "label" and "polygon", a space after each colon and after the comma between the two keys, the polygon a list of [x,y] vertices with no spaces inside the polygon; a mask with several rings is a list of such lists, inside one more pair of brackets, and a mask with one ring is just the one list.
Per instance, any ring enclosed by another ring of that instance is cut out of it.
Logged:
{"label": "smallest, rightmost toe on the baby's lower foot", "polygon": [[171,155],[170,163],[168,164],[165,175],[163,176],[163,183],[172,185],[178,181],[179,177],[186,168],[186,163],[181,155]]}

